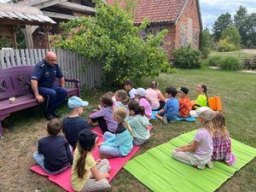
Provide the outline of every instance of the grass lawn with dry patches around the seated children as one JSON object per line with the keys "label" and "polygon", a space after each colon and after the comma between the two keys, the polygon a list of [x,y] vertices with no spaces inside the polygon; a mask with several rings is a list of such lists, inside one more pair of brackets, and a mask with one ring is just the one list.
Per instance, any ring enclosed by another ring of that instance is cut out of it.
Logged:
{"label": "grass lawn with dry patches around the seated children", "polygon": [[[148,87],[153,79],[143,79],[138,86]],[[207,84],[208,96],[219,95],[222,98],[224,114],[227,119],[230,136],[236,140],[256,148],[256,74],[225,72],[221,70],[201,69],[181,70],[172,75],[161,74],[154,79],[160,83],[162,92],[168,85],[187,86],[189,97],[194,99],[195,86],[204,82]],[[107,91],[107,90],[106,90]],[[88,111],[95,108],[103,90],[92,90],[84,93],[84,99],[90,102]],[[61,108],[61,113],[67,115],[67,107]],[[12,114],[4,121],[5,138],[0,140],[0,191],[62,191],[46,178],[30,172],[34,165],[32,154],[37,149],[39,137],[46,135],[42,108],[32,108]],[[197,123],[177,122],[172,125],[162,125],[154,121],[154,130],[149,143],[146,143],[137,154],[142,154],[148,148],[166,143],[183,132],[199,127]],[[113,179],[112,191],[148,191],[130,173],[121,170]],[[224,183],[218,191],[256,191],[256,160],[243,167],[240,172]]]}

